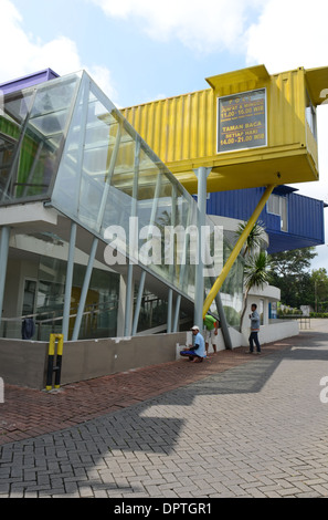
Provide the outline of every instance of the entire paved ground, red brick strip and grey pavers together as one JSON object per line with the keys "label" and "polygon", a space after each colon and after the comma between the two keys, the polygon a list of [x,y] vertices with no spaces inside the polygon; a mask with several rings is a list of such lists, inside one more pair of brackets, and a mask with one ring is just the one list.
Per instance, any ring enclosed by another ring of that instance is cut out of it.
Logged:
{"label": "entire paved ground, red brick strip and grey pavers together", "polygon": [[261,356],[6,386],[0,498],[327,497],[328,323],[311,326]]}

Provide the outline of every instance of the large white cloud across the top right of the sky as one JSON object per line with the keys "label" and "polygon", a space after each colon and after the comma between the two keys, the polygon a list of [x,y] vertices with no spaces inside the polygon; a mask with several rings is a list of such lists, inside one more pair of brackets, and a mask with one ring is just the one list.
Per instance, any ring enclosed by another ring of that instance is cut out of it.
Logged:
{"label": "large white cloud across the top right of the sky", "polygon": [[[264,63],[272,74],[327,65],[327,0],[89,1],[108,17],[139,22],[154,40],[177,39],[204,53],[239,52],[246,65]],[[295,187],[299,194],[328,202],[327,105],[318,108],[318,135],[320,180]],[[328,230],[328,210],[325,216]],[[319,248],[319,257],[327,256],[326,250],[326,246]]]}

